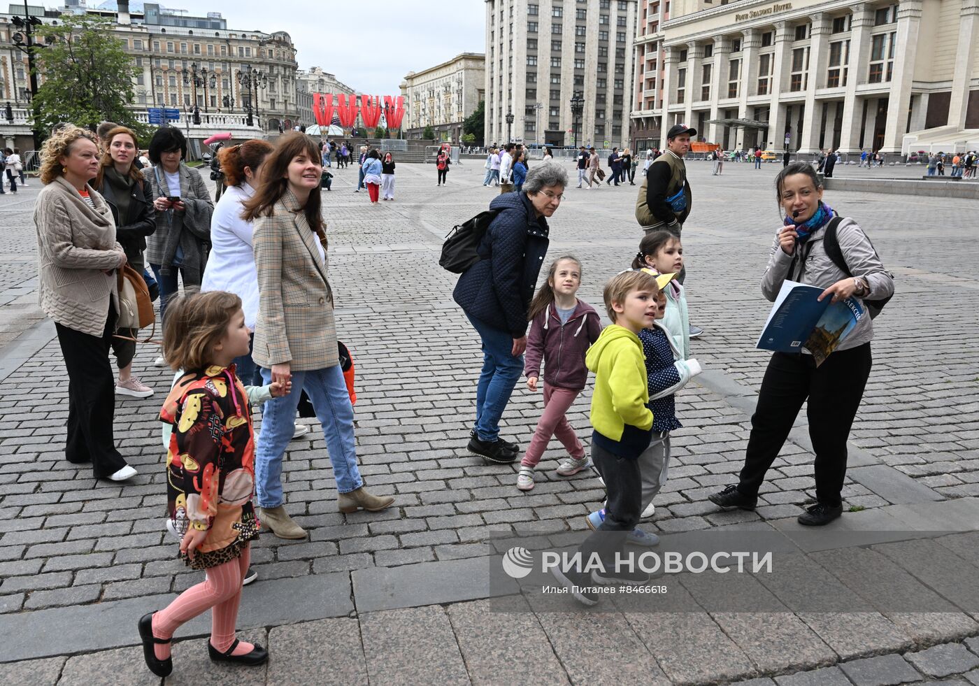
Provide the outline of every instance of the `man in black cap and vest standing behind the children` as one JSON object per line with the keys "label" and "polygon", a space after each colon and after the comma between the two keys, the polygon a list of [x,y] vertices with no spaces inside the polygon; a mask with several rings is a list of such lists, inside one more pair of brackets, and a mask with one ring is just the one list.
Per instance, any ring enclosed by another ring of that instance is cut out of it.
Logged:
{"label": "man in black cap and vest standing behind the children", "polygon": [[[696,129],[676,124],[667,132],[667,149],[646,171],[635,203],[635,218],[647,234],[665,230],[680,237],[683,222],[693,205],[683,156],[690,151],[690,136],[696,135]],[[683,283],[685,277],[684,265],[676,280]],[[703,333],[703,329],[690,326],[691,339]]]}

